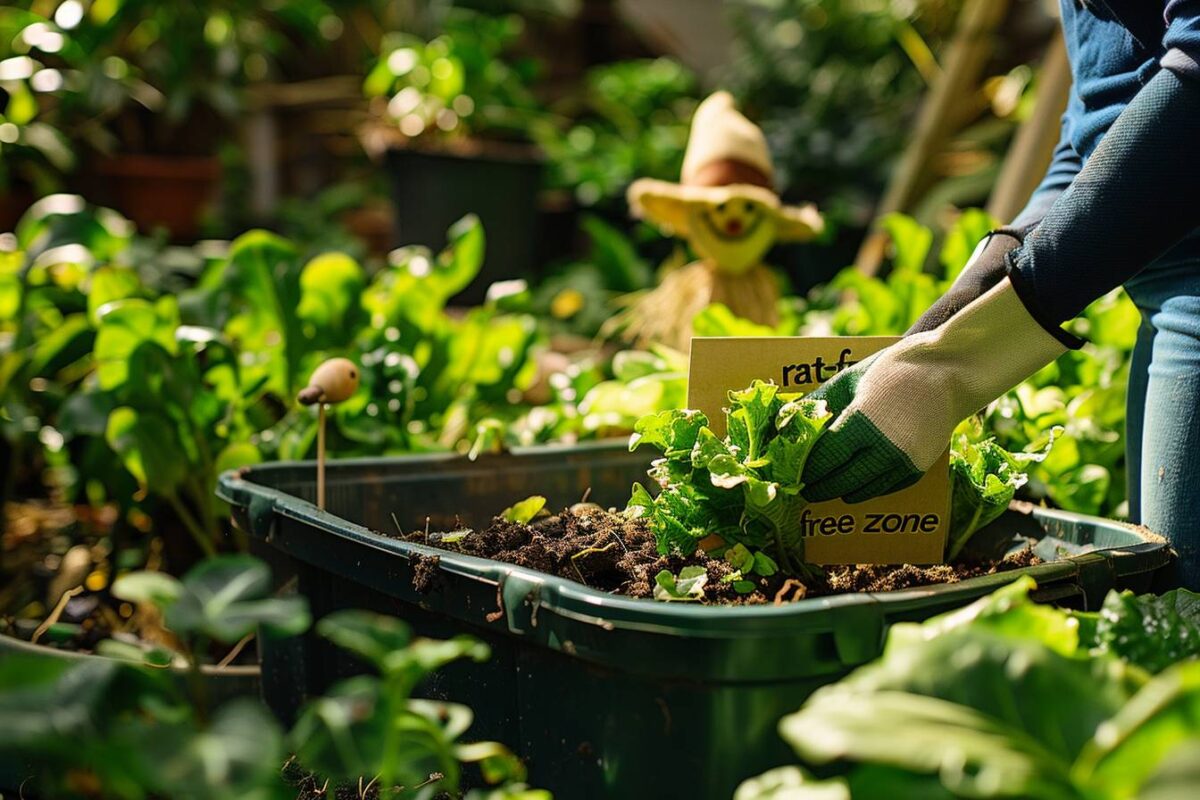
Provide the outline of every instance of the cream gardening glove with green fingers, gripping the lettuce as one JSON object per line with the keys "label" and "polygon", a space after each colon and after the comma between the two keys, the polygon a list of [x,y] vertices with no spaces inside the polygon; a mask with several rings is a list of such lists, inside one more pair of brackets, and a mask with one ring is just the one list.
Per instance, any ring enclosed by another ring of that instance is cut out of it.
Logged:
{"label": "cream gardening glove with green fingers, gripping the lettuce", "polygon": [[959,422],[1066,350],[1002,278],[810,395],[836,416],[809,453],[804,497],[860,503],[916,483]]}

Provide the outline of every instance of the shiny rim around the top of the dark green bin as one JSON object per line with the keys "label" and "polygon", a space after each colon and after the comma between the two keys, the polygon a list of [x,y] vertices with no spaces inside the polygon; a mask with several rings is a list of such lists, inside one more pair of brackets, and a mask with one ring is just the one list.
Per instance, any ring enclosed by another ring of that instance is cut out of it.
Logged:
{"label": "shiny rim around the top of the dark green bin", "polygon": [[[613,443],[587,443],[583,445],[550,445],[538,447],[514,449],[512,456],[522,453],[588,453],[611,452]],[[390,458],[347,458],[337,459],[336,465],[343,469],[380,468],[395,465],[397,462],[408,464],[466,462],[458,453],[420,453]],[[373,549],[403,557],[413,554],[437,555],[439,569],[446,572],[470,578],[473,581],[497,585],[498,594],[504,590],[505,597],[528,599],[535,609],[544,609],[571,618],[581,622],[599,625],[607,630],[641,630],[650,632],[668,632],[690,636],[762,636],[767,628],[778,628],[786,624],[796,630],[827,630],[836,625],[834,618],[840,614],[821,614],[816,612],[841,612],[851,609],[866,610],[863,607],[875,607],[880,614],[904,613],[910,608],[928,606],[931,599],[938,603],[965,603],[983,596],[1001,585],[1006,585],[1021,576],[1030,576],[1043,585],[1049,582],[1075,578],[1080,575],[1080,560],[1094,559],[1096,553],[1136,553],[1139,551],[1164,549],[1162,537],[1144,528],[1128,525],[1117,521],[1087,517],[1070,512],[1033,509],[1036,516],[1057,517],[1063,521],[1087,522],[1096,524],[1120,525],[1136,535],[1138,543],[1128,546],[1091,551],[1082,555],[1069,557],[1058,561],[1042,563],[998,572],[995,575],[967,578],[958,583],[916,587],[888,593],[847,593],[822,597],[808,597],[796,602],[775,606],[762,603],[752,606],[701,604],[690,602],[661,602],[643,597],[628,597],[592,589],[577,581],[562,578],[527,567],[506,564],[492,559],[464,555],[428,545],[406,542],[386,536],[356,522],[323,511],[316,504],[288,494],[281,489],[250,480],[252,475],[264,475],[295,469],[316,469],[316,462],[293,461],[271,462],[223,473],[217,482],[217,495],[227,503],[246,509],[250,512],[251,528],[258,528],[263,521],[270,522],[274,516],[282,516],[301,522],[341,540],[349,540]],[[251,535],[264,537],[262,530],[250,530]],[[1164,559],[1168,558],[1164,554]],[[325,566],[318,564],[318,566]],[[812,613],[809,613],[812,612]],[[510,627],[512,626],[510,619]]]}

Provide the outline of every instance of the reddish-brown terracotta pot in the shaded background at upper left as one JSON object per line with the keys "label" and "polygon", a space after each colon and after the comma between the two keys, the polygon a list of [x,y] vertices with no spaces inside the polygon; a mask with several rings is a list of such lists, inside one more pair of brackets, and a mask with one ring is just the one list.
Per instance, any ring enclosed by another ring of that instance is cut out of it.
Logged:
{"label": "reddish-brown terracotta pot in the shaded background at upper left", "polygon": [[138,230],[164,228],[176,241],[199,235],[200,217],[216,200],[216,156],[122,155],[96,164],[98,197]]}

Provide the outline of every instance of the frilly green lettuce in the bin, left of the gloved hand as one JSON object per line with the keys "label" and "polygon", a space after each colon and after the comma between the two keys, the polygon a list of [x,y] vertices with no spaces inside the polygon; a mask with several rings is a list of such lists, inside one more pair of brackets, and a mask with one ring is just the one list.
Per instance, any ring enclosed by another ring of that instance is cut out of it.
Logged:
{"label": "frilly green lettuce in the bin, left of the gloved hand", "polygon": [[[696,410],[660,411],[638,420],[629,447],[646,444],[662,453],[649,471],[661,491],[652,498],[635,485],[626,513],[647,521],[660,553],[686,555],[700,540],[719,536],[724,545],[709,552],[721,555],[726,548],[742,547],[748,577],[760,566],[761,575],[772,575],[776,561],[788,575],[811,577],[799,522],[806,505],[800,474],[829,414],[822,403],[755,381],[750,389],[730,392],[725,417],[724,439]],[[670,573],[660,573],[656,583],[672,597],[691,594],[678,589]]]}

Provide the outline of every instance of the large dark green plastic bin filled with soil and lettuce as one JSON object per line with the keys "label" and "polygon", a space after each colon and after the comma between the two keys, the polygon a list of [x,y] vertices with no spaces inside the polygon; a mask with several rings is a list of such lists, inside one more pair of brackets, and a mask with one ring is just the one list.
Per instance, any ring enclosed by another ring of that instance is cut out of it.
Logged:
{"label": "large dark green plastic bin filled with soil and lettuce", "polygon": [[[330,464],[329,510],[319,511],[313,465],[280,463],[222,475],[218,494],[277,573],[295,576],[316,618],[371,608],[424,636],[487,642],[490,662],[452,664],[426,692],[469,704],[472,735],[515,748],[530,782],[562,800],[728,798],[740,780],[787,760],[779,717],[878,655],[888,624],[962,606],[1018,575],[780,607],[703,607],[617,597],[377,533],[394,531],[395,521],[421,528],[426,517],[434,530],[482,525],[529,494],[562,507],[590,488],[590,499],[622,505],[646,465],[613,445],[475,462],[341,461]],[[1116,522],[1032,509],[1009,512],[1003,525],[1094,547],[1025,570],[1044,600],[1075,607],[1094,608],[1111,588],[1148,590],[1170,560],[1160,539]],[[425,595],[413,588],[414,554],[440,555],[439,581]],[[314,634],[263,640],[260,654],[264,696],[284,720],[355,670]]]}

